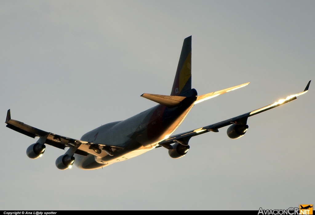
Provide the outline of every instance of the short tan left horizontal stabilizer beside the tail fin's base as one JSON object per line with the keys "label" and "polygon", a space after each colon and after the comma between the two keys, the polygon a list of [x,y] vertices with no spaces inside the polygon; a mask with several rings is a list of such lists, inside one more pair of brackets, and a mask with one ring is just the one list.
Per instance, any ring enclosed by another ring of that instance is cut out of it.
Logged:
{"label": "short tan left horizontal stabilizer beside the tail fin's base", "polygon": [[181,101],[183,101],[186,97],[184,96],[164,96],[164,95],[157,95],[157,94],[149,94],[144,93],[141,97],[149,99],[153,102],[157,102],[159,104],[165,105],[167,107],[174,107],[179,105]]}

